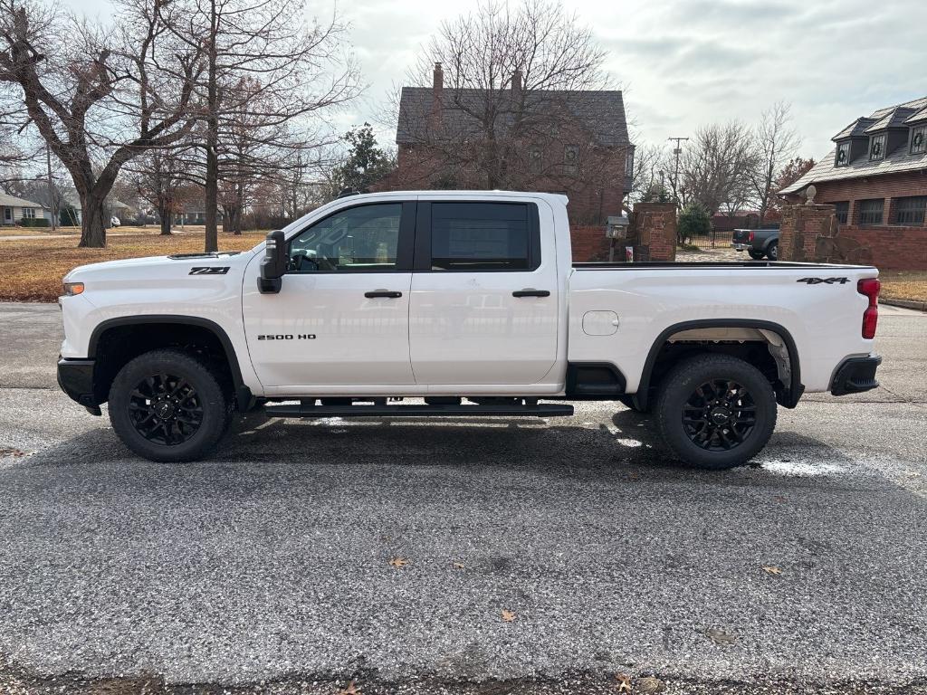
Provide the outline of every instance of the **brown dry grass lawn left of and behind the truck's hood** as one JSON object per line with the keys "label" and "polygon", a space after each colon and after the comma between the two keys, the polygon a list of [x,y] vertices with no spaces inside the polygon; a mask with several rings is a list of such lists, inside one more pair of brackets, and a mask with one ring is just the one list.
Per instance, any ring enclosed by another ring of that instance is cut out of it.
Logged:
{"label": "brown dry grass lawn left of and behind the truck's hood", "polygon": [[[76,238],[0,238],[0,301],[55,301],[61,294],[61,278],[79,265],[203,250],[203,234],[160,236],[157,228],[150,229],[141,234],[108,234],[106,248],[77,248]],[[220,233],[219,249],[242,251],[263,238],[263,232]]]}

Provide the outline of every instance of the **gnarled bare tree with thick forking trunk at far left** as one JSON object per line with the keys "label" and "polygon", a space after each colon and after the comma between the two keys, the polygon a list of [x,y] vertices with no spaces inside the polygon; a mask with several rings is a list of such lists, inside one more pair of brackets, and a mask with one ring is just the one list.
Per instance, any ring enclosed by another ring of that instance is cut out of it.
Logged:
{"label": "gnarled bare tree with thick forking trunk at far left", "polygon": [[171,0],[120,0],[106,32],[31,0],[0,0],[0,82],[70,172],[80,246],[106,245],[104,200],[121,167],[189,132],[201,46],[172,40]]}

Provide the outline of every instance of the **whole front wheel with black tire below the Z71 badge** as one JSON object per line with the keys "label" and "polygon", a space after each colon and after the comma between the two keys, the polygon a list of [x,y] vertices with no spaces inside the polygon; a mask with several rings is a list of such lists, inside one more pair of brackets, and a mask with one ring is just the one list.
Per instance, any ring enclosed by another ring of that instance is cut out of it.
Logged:
{"label": "whole front wheel with black tire below the Z71 badge", "polygon": [[109,388],[113,430],[149,461],[202,459],[228,431],[233,411],[218,370],[182,350],[136,357]]}

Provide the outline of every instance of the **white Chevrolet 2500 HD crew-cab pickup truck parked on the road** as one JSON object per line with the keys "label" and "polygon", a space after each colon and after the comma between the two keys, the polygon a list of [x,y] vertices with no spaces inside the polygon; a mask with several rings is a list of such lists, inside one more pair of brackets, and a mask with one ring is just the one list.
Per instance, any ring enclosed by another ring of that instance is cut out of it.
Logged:
{"label": "white Chevrolet 2500 HD crew-cab pickup truck parked on the road", "polygon": [[[777,403],[875,388],[878,272],[785,262],[573,263],[564,196],[345,196],[250,251],[64,279],[58,383],[154,461],[273,417],[654,411],[705,468],[763,448]],[[409,399],[413,399],[411,402]]]}

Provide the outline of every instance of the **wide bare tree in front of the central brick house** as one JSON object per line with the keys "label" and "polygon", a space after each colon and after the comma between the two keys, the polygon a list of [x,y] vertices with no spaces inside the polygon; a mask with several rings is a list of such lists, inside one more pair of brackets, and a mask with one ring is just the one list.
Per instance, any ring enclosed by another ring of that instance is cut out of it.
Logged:
{"label": "wide bare tree in front of the central brick house", "polygon": [[433,83],[430,117],[399,109],[422,183],[491,189],[545,182],[566,190],[601,178],[599,187],[614,185],[625,144],[615,151],[601,142],[601,124],[591,120],[601,111],[578,108],[581,92],[611,86],[605,57],[590,28],[557,2],[489,0],[444,22],[409,75]]}

